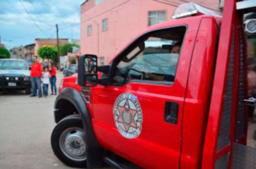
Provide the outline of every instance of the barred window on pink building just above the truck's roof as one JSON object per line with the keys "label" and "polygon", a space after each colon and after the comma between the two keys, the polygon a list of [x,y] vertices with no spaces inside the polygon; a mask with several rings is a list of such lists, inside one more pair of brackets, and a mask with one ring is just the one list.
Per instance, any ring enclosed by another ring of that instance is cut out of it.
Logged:
{"label": "barred window on pink building just above the truck's roof", "polygon": [[148,12],[148,26],[159,24],[166,21],[166,11]]}

